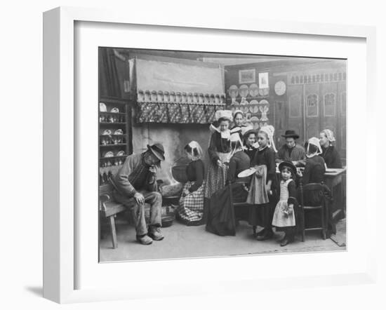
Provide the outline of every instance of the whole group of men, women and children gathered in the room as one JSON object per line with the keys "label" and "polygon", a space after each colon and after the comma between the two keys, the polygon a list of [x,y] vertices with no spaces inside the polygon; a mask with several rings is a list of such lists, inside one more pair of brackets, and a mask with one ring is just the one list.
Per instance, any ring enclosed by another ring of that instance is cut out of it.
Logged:
{"label": "whole group of men, women and children gathered in the room", "polygon": [[[244,124],[243,112],[232,114],[229,110],[216,112],[210,130],[207,169],[198,142],[189,142],[184,148],[189,159],[188,181],[176,210],[178,220],[187,225],[206,224],[213,234],[234,236],[237,220],[244,219],[258,241],[272,238],[275,227],[285,231],[282,246],[293,242],[298,227],[297,178],[301,176],[303,184],[320,183],[326,167],[342,168],[333,132],[323,130],[319,138],[310,138],[302,147],[296,143],[299,135],[286,130],[286,144],[277,151],[273,126],[254,130]],[[160,231],[161,195],[156,189],[157,168],[164,159],[161,144],[148,145],[145,153],[128,156],[111,179],[114,198],[134,205],[136,238],[142,244],[164,238]],[[151,205],[148,229],[145,202]],[[246,202],[248,210],[234,210],[232,202]],[[262,229],[257,232],[257,227]]]}

